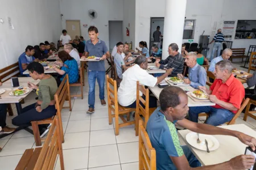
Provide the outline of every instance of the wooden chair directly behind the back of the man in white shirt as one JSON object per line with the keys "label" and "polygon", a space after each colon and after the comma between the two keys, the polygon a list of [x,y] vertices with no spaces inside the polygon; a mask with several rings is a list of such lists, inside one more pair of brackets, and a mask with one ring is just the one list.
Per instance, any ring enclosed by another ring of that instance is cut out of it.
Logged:
{"label": "wooden chair directly behind the back of the man in white shirt", "polygon": [[[146,100],[139,95],[139,92],[142,92],[146,96]],[[143,122],[143,126],[146,128],[147,121],[150,115],[155,111],[156,108],[149,108],[149,90],[144,86],[139,85],[137,81],[137,98],[136,98],[136,112],[135,112],[135,135],[139,135],[139,120]],[[144,121],[141,118],[141,115],[144,117]]]}

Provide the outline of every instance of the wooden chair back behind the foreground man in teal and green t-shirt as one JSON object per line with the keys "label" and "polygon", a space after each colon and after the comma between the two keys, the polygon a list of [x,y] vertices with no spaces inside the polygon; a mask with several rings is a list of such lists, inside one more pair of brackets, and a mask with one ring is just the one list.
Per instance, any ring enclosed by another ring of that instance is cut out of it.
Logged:
{"label": "wooden chair back behind the foreground man in teal and green t-shirt", "polygon": [[156,170],[156,152],[143,122],[139,120],[139,170]]}

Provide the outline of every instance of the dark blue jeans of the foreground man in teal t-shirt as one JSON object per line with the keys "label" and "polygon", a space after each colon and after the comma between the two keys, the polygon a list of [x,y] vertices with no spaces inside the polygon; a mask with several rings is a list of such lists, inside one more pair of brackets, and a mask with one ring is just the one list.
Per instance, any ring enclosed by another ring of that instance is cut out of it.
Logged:
{"label": "dark blue jeans of the foreground man in teal t-shirt", "polygon": [[[201,167],[201,163],[197,160],[196,156],[192,153],[192,151],[188,148],[188,146],[181,146],[186,156],[189,166],[192,168]],[[170,169],[177,169],[174,163],[171,165]]]}

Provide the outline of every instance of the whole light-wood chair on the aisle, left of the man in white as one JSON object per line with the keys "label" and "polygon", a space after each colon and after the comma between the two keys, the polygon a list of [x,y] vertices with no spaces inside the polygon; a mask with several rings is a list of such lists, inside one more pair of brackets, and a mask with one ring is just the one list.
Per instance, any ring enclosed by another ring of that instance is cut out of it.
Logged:
{"label": "whole light-wood chair on the aisle, left of the man in white", "polygon": [[[110,84],[113,88],[110,87]],[[117,100],[117,81],[109,78],[109,75],[106,75],[106,85],[108,92],[108,112],[109,112],[109,125],[112,124],[112,118],[115,118],[115,135],[119,134],[119,128],[124,126],[129,126],[135,124],[135,121],[130,121],[130,112],[135,111],[135,108],[126,108],[118,104]],[[114,114],[112,114],[112,112]],[[126,114],[127,118],[123,117],[123,114]],[[119,124],[118,117],[123,121],[122,124]],[[129,121],[129,122],[128,122]]]}

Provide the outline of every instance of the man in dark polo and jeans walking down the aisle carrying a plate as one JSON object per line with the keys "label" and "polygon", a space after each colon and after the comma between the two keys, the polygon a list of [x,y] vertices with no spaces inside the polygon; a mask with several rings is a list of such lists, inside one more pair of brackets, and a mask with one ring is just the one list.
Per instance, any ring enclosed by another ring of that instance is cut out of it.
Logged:
{"label": "man in dark polo and jeans walking down the aisle carrying a plate", "polygon": [[101,61],[88,62],[89,109],[86,113],[94,113],[96,79],[100,88],[101,105],[106,105],[106,101],[104,100],[105,59],[110,57],[110,53],[105,42],[98,39],[98,29],[96,27],[89,27],[88,33],[90,40],[86,41],[84,56],[81,58],[87,58],[89,56],[101,57]]}

